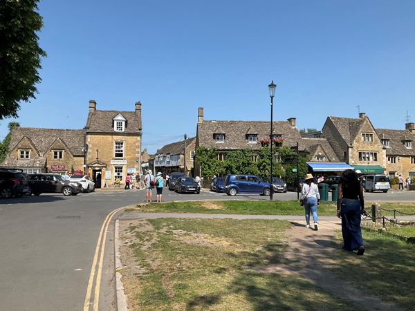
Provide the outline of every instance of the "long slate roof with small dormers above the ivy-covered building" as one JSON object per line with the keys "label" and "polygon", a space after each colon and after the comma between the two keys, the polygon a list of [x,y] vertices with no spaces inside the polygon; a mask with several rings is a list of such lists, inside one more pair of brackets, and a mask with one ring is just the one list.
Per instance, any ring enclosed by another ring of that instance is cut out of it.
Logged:
{"label": "long slate roof with small dormers above the ivy-covered building", "polygon": [[[239,150],[243,148],[259,149],[261,144],[259,140],[270,137],[270,122],[266,121],[224,121],[224,120],[203,120],[197,124],[199,145],[206,148],[216,147],[220,150]],[[225,134],[224,142],[216,142],[214,133]],[[249,143],[246,140],[246,134],[256,132],[257,144]],[[288,121],[273,122],[273,133],[281,134],[284,145],[288,147],[295,146],[300,140],[300,135],[296,127],[291,126]]]}

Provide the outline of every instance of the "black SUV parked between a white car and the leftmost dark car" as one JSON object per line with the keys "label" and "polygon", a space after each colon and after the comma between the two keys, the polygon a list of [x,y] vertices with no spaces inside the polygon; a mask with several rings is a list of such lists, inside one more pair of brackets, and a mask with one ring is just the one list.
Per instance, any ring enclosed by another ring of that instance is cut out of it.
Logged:
{"label": "black SUV parked between a white car and the leftmost dark car", "polygon": [[62,193],[64,196],[76,196],[83,191],[80,182],[64,180],[59,174],[53,173],[28,174],[28,182],[30,191],[35,196],[55,193]]}

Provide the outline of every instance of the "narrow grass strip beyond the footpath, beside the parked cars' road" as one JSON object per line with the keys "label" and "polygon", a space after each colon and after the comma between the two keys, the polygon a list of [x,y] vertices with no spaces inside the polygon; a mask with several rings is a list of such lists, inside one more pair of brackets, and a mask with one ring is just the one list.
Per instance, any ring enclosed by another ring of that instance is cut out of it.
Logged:
{"label": "narrow grass strip beyond the footpath, beside the parked cars' road", "polygon": [[[371,202],[365,202],[369,209]],[[415,214],[415,202],[382,202],[385,209],[397,209],[405,213]],[[222,201],[187,201],[151,203],[137,205],[135,209],[126,211],[151,211],[171,213],[201,214],[263,214],[263,215],[304,215],[304,207],[297,200],[222,200]],[[320,202],[317,208],[320,216],[335,216],[336,205],[331,202]],[[382,211],[384,216],[393,216],[391,211]]]}

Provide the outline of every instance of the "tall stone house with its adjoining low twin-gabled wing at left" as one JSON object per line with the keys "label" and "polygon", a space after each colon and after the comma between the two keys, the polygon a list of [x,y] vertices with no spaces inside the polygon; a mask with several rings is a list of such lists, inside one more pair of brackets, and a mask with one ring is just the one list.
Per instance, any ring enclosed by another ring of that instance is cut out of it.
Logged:
{"label": "tall stone house with its adjoining low twin-gabled wing at left", "polygon": [[89,101],[83,130],[15,127],[0,167],[27,173],[89,173],[97,187],[113,187],[141,165],[141,103],[135,111],[104,111]]}

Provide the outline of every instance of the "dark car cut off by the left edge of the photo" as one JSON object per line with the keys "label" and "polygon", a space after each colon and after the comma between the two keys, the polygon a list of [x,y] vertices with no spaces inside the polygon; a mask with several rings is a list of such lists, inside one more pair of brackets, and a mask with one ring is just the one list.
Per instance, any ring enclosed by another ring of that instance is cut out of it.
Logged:
{"label": "dark car cut off by the left edge of the photo", "polygon": [[0,196],[20,198],[29,191],[28,181],[21,169],[0,169]]}

